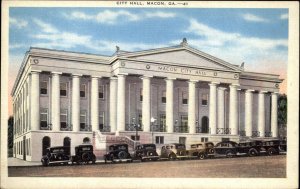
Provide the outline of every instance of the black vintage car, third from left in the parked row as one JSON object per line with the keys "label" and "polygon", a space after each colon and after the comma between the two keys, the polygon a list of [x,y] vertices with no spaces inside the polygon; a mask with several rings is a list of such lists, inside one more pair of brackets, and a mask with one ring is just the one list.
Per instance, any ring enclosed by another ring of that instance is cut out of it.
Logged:
{"label": "black vintage car, third from left in the parked row", "polygon": [[132,162],[131,155],[128,152],[127,144],[113,144],[108,147],[108,152],[104,155],[104,162]]}

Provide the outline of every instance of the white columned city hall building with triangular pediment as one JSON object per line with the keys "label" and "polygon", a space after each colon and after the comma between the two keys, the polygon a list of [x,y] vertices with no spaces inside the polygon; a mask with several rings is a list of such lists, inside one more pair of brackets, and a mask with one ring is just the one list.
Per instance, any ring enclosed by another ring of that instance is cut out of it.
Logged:
{"label": "white columned city hall building with triangular pediment", "polygon": [[[278,137],[278,75],[247,72],[190,47],[112,56],[30,48],[12,90],[14,156],[49,146]],[[132,146],[131,146],[132,147]]]}

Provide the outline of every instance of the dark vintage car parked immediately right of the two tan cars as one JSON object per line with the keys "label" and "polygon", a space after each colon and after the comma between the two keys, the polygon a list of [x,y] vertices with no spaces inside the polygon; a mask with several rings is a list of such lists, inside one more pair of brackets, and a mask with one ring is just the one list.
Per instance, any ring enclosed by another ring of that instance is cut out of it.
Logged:
{"label": "dark vintage car parked immediately right of the two tan cars", "polygon": [[238,144],[233,141],[223,141],[215,145],[215,156],[226,156],[231,158],[237,155]]}

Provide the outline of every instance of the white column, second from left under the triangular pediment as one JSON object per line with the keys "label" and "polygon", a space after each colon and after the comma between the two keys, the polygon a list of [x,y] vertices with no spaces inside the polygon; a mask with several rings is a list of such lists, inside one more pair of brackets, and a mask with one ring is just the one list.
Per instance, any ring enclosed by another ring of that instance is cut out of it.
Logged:
{"label": "white column, second from left under the triangular pediment", "polygon": [[142,119],[143,128],[145,132],[150,132],[150,117],[151,117],[151,107],[150,107],[150,95],[151,95],[151,77],[143,76],[143,107],[142,107]]}

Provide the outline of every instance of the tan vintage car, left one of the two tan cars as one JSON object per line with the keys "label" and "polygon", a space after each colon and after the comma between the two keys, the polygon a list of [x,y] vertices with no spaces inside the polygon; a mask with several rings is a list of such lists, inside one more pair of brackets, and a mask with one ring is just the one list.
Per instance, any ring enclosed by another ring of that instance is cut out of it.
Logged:
{"label": "tan vintage car, left one of the two tan cars", "polygon": [[187,151],[184,144],[166,144],[161,147],[161,158],[168,158],[169,160],[187,158]]}

